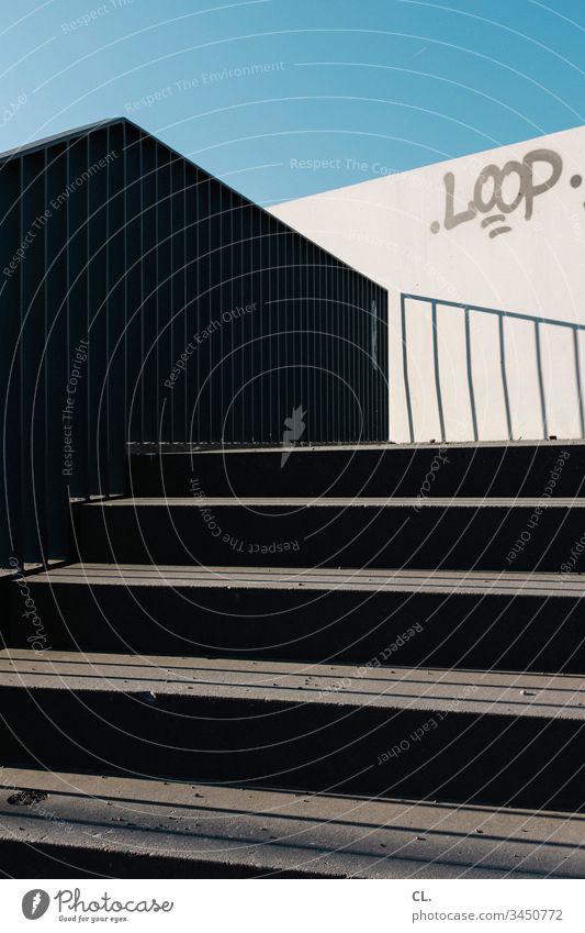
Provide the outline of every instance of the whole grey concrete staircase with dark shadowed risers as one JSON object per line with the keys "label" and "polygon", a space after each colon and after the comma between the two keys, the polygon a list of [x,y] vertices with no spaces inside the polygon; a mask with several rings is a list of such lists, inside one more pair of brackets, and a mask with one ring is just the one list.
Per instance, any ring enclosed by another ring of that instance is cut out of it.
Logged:
{"label": "whole grey concrete staircase with dark shadowed risers", "polygon": [[585,445],[284,454],[135,448],[4,579],[1,870],[585,877]]}

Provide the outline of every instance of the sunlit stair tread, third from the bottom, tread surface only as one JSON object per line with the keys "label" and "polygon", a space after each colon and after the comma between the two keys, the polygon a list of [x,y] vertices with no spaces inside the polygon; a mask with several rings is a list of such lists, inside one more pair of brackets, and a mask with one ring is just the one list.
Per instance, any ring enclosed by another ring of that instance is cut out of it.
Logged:
{"label": "sunlit stair tread, third from the bottom, tread surface only", "polygon": [[27,584],[91,586],[239,587],[314,590],[480,593],[492,596],[582,597],[585,574],[450,570],[314,569],[286,567],[205,567],[140,564],[74,564],[27,578]]}

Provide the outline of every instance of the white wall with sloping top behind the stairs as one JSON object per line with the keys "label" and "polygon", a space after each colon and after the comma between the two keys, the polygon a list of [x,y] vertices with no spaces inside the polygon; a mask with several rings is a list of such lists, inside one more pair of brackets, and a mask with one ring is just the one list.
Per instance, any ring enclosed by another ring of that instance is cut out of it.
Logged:
{"label": "white wall with sloping top behind the stairs", "polygon": [[[393,441],[409,440],[401,292],[585,325],[585,127],[290,201],[272,213],[389,289]],[[406,321],[415,440],[439,440],[430,306],[408,301]],[[540,367],[533,322],[505,318],[503,332],[513,436],[543,436],[541,384],[548,434],[581,436],[574,341],[585,381],[585,331],[542,324]],[[473,440],[464,312],[439,304],[437,334],[447,437]],[[505,440],[498,318],[471,311],[470,342],[479,437]]]}

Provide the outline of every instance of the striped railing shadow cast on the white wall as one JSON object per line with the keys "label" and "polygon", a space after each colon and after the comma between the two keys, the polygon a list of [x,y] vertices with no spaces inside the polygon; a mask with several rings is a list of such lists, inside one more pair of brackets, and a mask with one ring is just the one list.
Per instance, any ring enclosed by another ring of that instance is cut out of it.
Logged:
{"label": "striped railing shadow cast on the white wall", "polygon": [[[585,324],[577,324],[572,321],[558,321],[552,318],[539,318],[530,314],[522,314],[515,311],[503,311],[496,308],[484,308],[477,304],[466,304],[459,301],[448,301],[440,298],[429,298],[428,296],[423,295],[401,295],[401,335],[402,335],[402,360],[403,360],[403,377],[404,377],[404,389],[406,396],[406,410],[408,416],[408,431],[410,435],[410,442],[414,443],[416,440],[416,430],[414,423],[413,415],[413,402],[412,402],[412,389],[410,389],[410,380],[408,374],[408,334],[407,334],[407,312],[408,312],[408,302],[416,301],[425,304],[430,310],[431,315],[431,329],[432,329],[432,365],[434,365],[434,389],[435,396],[437,400],[437,409],[438,409],[438,420],[441,441],[450,440],[447,437],[446,424],[445,424],[445,411],[443,411],[443,400],[442,400],[442,387],[441,387],[441,369],[440,369],[440,355],[439,355],[439,333],[438,333],[438,319],[437,319],[437,309],[438,308],[452,308],[459,310],[464,315],[464,335],[465,335],[465,377],[466,377],[466,386],[468,386],[468,396],[469,396],[469,407],[470,407],[470,415],[471,423],[473,430],[473,438],[474,441],[479,441],[479,427],[477,427],[477,409],[475,402],[475,388],[473,380],[473,353],[472,353],[472,331],[471,331],[471,320],[472,314],[486,314],[493,315],[497,319],[497,330],[498,330],[498,368],[499,368],[499,378],[502,384],[502,391],[504,397],[504,408],[505,408],[505,416],[506,416],[506,429],[507,429],[507,437],[509,441],[515,440],[514,437],[514,425],[513,425],[513,415],[510,408],[510,393],[509,393],[509,377],[508,377],[508,364],[506,360],[506,337],[505,337],[505,321],[506,320],[515,320],[515,321],[524,321],[530,325],[531,336],[533,340],[535,346],[535,358],[536,358],[536,370],[537,370],[537,379],[538,379],[538,404],[540,408],[541,423],[542,423],[542,437],[543,440],[549,438],[549,416],[547,410],[547,393],[545,393],[545,385],[544,385],[544,375],[542,367],[542,340],[541,340],[541,327],[542,326],[552,326],[566,329],[572,333],[572,344],[573,344],[573,359],[572,365],[575,370],[575,389],[576,389],[576,398],[575,403],[578,409],[578,418],[580,418],[580,429],[581,436],[585,436],[585,415],[584,415],[584,403],[583,403],[583,392],[582,392],[582,378],[581,378],[581,360],[580,360],[580,345],[578,345],[578,334],[582,331],[585,331]],[[418,311],[420,309],[417,309]],[[413,313],[413,312],[410,312]]]}

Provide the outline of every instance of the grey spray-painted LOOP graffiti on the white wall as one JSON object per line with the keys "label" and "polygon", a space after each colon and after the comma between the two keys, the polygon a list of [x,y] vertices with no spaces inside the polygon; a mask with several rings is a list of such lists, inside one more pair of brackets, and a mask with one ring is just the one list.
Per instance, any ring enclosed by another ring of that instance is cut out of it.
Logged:
{"label": "grey spray-painted LOOP graffiti on the white wall", "polygon": [[[550,191],[556,185],[563,170],[563,160],[552,149],[532,149],[521,162],[511,159],[502,168],[495,164],[483,168],[473,187],[472,198],[465,210],[455,210],[455,176],[452,171],[445,175],[445,218],[442,227],[454,230],[462,223],[487,214],[481,220],[490,237],[509,233],[510,214],[515,211],[525,220],[530,220],[535,200]],[[573,175],[570,184],[578,188],[581,175]],[[461,199],[458,198],[459,202]],[[496,225],[497,224],[497,225]],[[438,233],[441,224],[438,220],[430,224],[431,233]]]}

